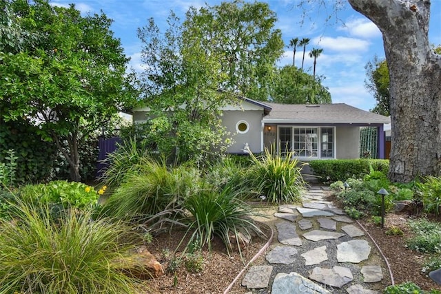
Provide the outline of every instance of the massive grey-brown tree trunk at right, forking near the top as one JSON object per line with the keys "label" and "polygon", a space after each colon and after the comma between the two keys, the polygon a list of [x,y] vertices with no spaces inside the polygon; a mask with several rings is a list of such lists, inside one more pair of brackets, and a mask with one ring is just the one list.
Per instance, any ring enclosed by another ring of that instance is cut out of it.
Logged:
{"label": "massive grey-brown tree trunk at right, forking near the top", "polygon": [[390,76],[389,179],[441,170],[441,56],[429,45],[429,0],[348,0],[382,32]]}

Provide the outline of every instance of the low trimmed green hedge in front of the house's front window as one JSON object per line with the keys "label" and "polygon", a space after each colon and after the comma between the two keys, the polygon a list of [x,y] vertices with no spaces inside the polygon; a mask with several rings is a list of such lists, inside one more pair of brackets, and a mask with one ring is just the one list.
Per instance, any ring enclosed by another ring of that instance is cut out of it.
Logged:
{"label": "low trimmed green hedge in front of the house's front window", "polygon": [[363,178],[370,167],[387,175],[389,160],[384,159],[331,159],[311,160],[309,166],[322,182],[344,182],[347,178]]}

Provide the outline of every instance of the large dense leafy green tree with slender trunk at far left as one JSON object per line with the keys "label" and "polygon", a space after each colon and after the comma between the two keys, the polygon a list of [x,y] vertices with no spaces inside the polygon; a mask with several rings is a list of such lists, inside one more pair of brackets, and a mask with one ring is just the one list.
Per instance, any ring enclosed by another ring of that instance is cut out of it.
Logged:
{"label": "large dense leafy green tree with slender trunk at far left", "polygon": [[81,17],[73,5],[47,0],[15,0],[10,7],[23,32],[40,37],[23,50],[0,52],[2,118],[31,118],[79,181],[79,145],[136,98],[125,74],[128,59],[105,14]]}

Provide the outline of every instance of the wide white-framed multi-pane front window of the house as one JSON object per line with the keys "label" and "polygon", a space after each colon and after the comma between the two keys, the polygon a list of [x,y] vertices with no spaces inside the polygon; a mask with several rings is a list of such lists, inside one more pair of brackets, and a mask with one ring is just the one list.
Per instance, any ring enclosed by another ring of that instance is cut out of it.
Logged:
{"label": "wide white-framed multi-pane front window of the house", "polygon": [[293,152],[302,159],[335,158],[335,127],[279,126],[279,153]]}

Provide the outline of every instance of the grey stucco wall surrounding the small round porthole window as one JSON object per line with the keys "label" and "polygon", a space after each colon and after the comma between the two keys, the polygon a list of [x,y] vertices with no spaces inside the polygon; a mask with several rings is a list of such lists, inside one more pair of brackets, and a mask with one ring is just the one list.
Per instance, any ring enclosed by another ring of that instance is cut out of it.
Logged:
{"label": "grey stucco wall surrounding the small round porthole window", "polygon": [[[227,132],[231,132],[235,141],[232,146],[227,149],[228,153],[242,154],[245,143],[248,143],[249,149],[253,153],[260,153],[260,129],[262,127],[262,110],[225,110],[222,116],[222,123],[227,127]],[[236,132],[236,124],[240,120],[247,121],[249,130],[246,134],[238,134]]]}

